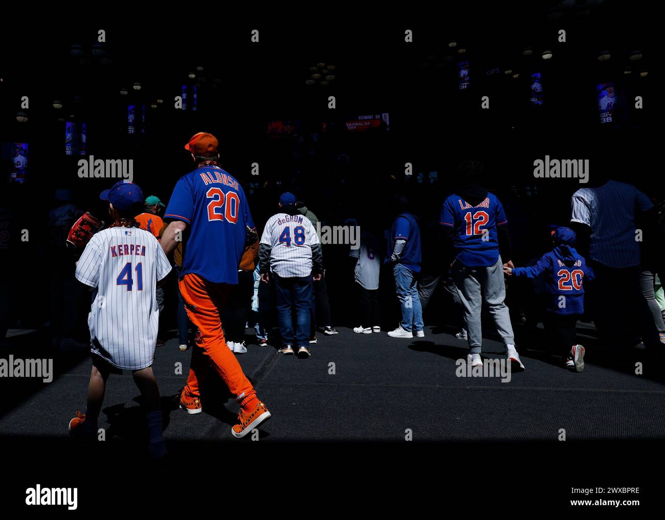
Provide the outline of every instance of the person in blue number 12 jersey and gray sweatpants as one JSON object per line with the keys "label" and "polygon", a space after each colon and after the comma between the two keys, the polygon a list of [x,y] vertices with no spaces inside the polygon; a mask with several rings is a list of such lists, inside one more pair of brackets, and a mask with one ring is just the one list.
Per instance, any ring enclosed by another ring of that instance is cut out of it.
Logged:
{"label": "person in blue number 12 jersey and gray sweatpants", "polygon": [[523,369],[515,349],[508,307],[504,303],[505,282],[499,249],[507,265],[513,267],[507,219],[499,199],[480,186],[482,170],[481,162],[463,161],[457,169],[460,186],[444,201],[441,210],[444,239],[452,243],[456,253],[451,268],[464,306],[469,361],[471,366],[483,364],[480,354],[484,302],[503,339],[507,357]]}

